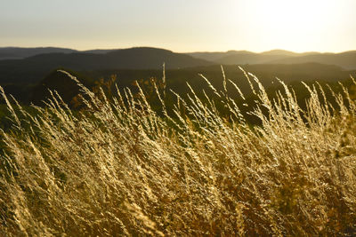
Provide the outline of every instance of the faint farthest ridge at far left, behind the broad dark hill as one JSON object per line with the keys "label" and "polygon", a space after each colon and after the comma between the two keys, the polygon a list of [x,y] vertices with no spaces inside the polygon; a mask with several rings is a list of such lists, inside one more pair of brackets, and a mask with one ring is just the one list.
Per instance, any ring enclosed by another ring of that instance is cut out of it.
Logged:
{"label": "faint farthest ridge at far left, behind the broad dark hill", "polygon": [[0,59],[24,59],[31,56],[44,53],[62,52],[70,53],[76,50],[55,48],[55,47],[40,47],[40,48],[20,48],[20,47],[0,47]]}

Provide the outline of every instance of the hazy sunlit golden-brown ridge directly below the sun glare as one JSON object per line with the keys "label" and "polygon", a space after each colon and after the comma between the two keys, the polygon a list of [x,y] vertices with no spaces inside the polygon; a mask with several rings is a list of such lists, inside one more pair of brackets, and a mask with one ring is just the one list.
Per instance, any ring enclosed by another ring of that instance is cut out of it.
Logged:
{"label": "hazy sunlit golden-brown ridge directly below the sun glare", "polygon": [[261,53],[251,51],[226,51],[226,52],[190,52],[189,55],[197,59],[214,61],[217,64],[244,65],[244,64],[300,64],[321,63],[336,65],[344,69],[356,69],[356,51],[342,53],[320,53],[293,51],[264,51]]}

